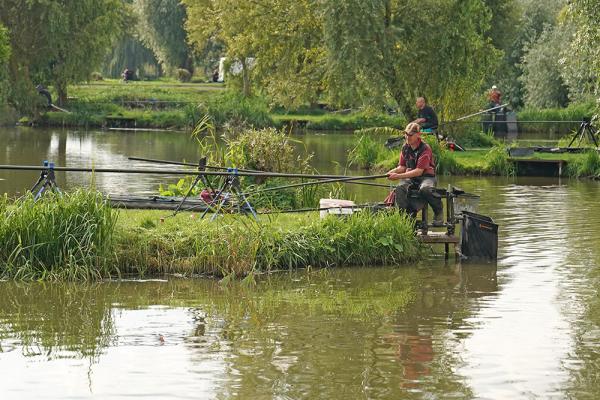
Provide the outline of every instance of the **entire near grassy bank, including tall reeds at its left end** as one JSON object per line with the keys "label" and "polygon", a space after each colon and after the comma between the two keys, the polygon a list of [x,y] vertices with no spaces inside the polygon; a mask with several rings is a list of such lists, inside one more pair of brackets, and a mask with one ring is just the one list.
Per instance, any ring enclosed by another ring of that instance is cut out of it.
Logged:
{"label": "entire near grassy bank, including tall reeds at its left end", "polygon": [[[349,218],[239,216],[215,222],[164,211],[117,214],[96,193],[77,192],[0,207],[0,275],[14,279],[99,279],[164,273],[244,276],[253,271],[399,265],[422,248],[403,214]],[[164,222],[161,222],[164,221]]]}

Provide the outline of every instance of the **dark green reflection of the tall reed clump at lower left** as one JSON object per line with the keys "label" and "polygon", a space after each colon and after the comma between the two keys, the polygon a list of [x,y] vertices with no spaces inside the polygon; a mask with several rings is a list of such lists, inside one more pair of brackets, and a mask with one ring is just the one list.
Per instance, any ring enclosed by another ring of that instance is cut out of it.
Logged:
{"label": "dark green reflection of the tall reed clump at lower left", "polygon": [[[112,296],[102,285],[3,283],[0,337],[17,339],[25,355],[97,358],[113,334]],[[4,340],[3,340],[4,341]]]}

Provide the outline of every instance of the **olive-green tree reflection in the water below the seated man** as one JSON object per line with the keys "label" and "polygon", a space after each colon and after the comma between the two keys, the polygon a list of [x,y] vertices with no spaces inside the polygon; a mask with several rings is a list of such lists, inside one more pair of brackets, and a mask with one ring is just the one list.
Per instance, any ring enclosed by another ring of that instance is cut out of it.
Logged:
{"label": "olive-green tree reflection in the water below the seated man", "polygon": [[[219,398],[419,397],[407,385],[410,368],[421,373],[420,391],[466,395],[451,372],[460,360],[444,346],[452,322],[469,316],[472,293],[496,290],[479,272],[435,269],[423,279],[414,269],[353,269],[230,288],[209,313],[227,354]],[[194,342],[195,362],[215,346],[205,340]]]}

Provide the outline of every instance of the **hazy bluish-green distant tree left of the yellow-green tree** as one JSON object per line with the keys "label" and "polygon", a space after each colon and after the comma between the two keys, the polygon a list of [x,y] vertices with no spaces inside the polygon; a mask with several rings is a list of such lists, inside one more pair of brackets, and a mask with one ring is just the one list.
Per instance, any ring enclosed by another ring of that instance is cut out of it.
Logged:
{"label": "hazy bluish-green distant tree left of the yellow-green tree", "polygon": [[166,70],[194,72],[191,48],[186,41],[185,7],[179,0],[134,0],[141,41],[154,52]]}

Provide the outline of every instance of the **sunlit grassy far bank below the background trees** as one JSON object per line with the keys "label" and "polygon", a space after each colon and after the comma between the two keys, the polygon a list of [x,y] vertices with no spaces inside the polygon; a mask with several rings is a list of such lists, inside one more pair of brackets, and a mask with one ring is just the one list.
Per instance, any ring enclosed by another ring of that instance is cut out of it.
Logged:
{"label": "sunlit grassy far bank below the background trees", "polygon": [[[135,120],[137,128],[191,129],[204,115],[217,126],[283,127],[353,130],[372,126],[403,126],[402,117],[362,111],[329,112],[318,107],[294,112],[270,110],[260,98],[243,98],[222,84],[129,82],[106,80],[69,87],[63,108],[41,117],[43,126],[110,127],[115,120]],[[118,121],[117,121],[118,122]]]}

